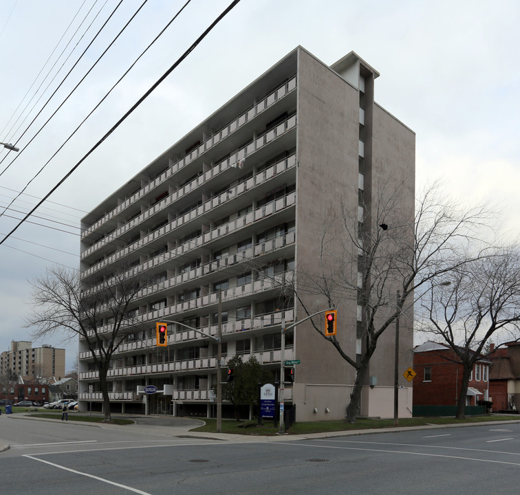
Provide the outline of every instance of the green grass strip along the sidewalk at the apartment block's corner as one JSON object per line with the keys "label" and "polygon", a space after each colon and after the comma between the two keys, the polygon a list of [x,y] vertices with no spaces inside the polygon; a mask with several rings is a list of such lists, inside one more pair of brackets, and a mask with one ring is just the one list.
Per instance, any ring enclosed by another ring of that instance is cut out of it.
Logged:
{"label": "green grass strip along the sidewalk at the apartment block's corner", "polygon": [[[455,419],[454,417],[417,417],[402,418],[399,420],[400,428],[407,426],[446,425],[463,423],[481,423],[483,421],[520,421],[519,416],[471,416],[466,419]],[[216,419],[204,419],[206,425],[194,428],[191,431],[217,432]],[[247,428],[241,425],[248,426]],[[376,428],[392,428],[393,419],[358,419],[356,423],[344,423],[343,421],[312,421],[308,423],[294,423],[288,428],[288,434],[309,434],[336,432],[348,430],[371,430]],[[274,435],[279,428],[274,428],[272,421],[264,421],[263,426],[256,426],[256,421],[235,421],[231,419],[222,420],[222,432],[232,434],[250,435]]]}

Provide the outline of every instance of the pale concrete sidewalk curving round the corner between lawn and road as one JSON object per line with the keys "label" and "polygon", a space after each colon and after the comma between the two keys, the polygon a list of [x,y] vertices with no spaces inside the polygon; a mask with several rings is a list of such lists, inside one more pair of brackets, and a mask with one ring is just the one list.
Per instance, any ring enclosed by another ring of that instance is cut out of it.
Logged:
{"label": "pale concrete sidewalk curving round the corner between lawn and road", "polygon": [[[69,423],[75,423],[82,426],[93,426],[96,428],[115,428],[117,430],[126,430],[129,434],[131,432],[140,432],[147,434],[160,434],[165,437],[182,437],[190,439],[206,439],[206,440],[220,440],[229,441],[233,443],[244,442],[280,442],[280,441],[298,441],[298,440],[312,440],[312,439],[327,439],[334,437],[350,437],[362,434],[378,434],[391,432],[404,432],[409,430],[439,430],[443,428],[461,428],[470,426],[490,426],[501,425],[508,423],[520,423],[518,420],[508,421],[482,421],[481,423],[463,423],[451,425],[426,425],[426,426],[402,426],[393,428],[373,428],[372,430],[345,430],[338,432],[321,432],[309,433],[305,435],[296,434],[280,434],[274,436],[254,435],[254,434],[228,434],[228,433],[212,433],[212,432],[195,432],[191,431],[197,426],[201,426],[204,421],[202,419],[193,418],[177,418],[177,417],[157,417],[157,416],[130,416],[130,415],[113,415],[113,417],[124,417],[125,419],[132,419],[136,423],[131,425],[115,425],[107,423],[85,423],[85,421],[74,421],[74,415],[69,413]],[[28,421],[56,421],[56,419],[44,419],[30,417],[25,413],[17,413],[10,415],[10,419],[25,419]],[[9,445],[0,440],[0,452],[7,450]]]}

